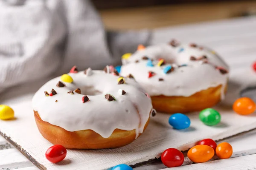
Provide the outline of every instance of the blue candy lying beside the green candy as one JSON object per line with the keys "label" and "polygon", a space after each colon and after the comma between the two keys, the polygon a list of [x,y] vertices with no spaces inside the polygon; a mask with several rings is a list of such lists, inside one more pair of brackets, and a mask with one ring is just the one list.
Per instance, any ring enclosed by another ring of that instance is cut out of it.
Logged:
{"label": "blue candy lying beside the green candy", "polygon": [[175,113],[170,116],[169,124],[175,129],[186,129],[190,125],[190,119],[182,113]]}

